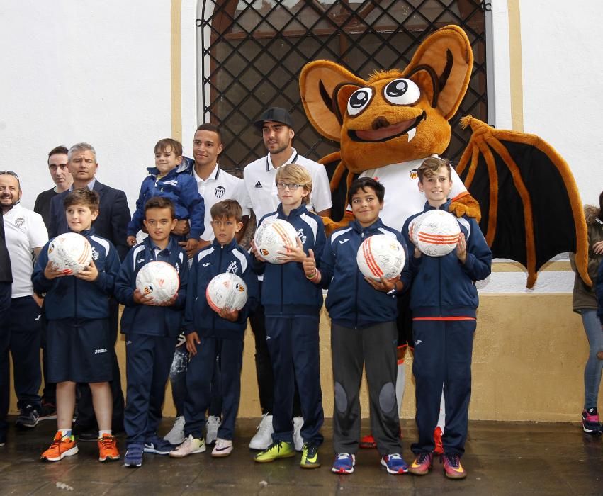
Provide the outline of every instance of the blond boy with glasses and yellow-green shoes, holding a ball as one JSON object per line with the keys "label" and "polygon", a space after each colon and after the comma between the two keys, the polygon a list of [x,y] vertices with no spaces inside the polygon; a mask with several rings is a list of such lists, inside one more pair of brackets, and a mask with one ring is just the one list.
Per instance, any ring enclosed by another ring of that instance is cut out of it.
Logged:
{"label": "blond boy with glasses and yellow-green shoes, holding a ball", "polygon": [[320,389],[320,351],[318,341],[322,291],[305,277],[302,266],[309,252],[319,255],[325,246],[325,226],[306,204],[312,191],[312,178],[298,164],[278,167],[276,188],[281,204],[274,213],[264,215],[258,225],[271,219],[283,219],[298,232],[298,246],[281,254],[282,264],[267,264],[253,246],[257,269],[264,272],[261,303],[266,315],[266,344],[274,372],[274,412],[272,444],[259,452],[260,463],[295,456],[293,446],[293,394],[295,381],[303,414],[302,468],[318,468],[318,447],[322,444],[320,427],[322,390]]}

